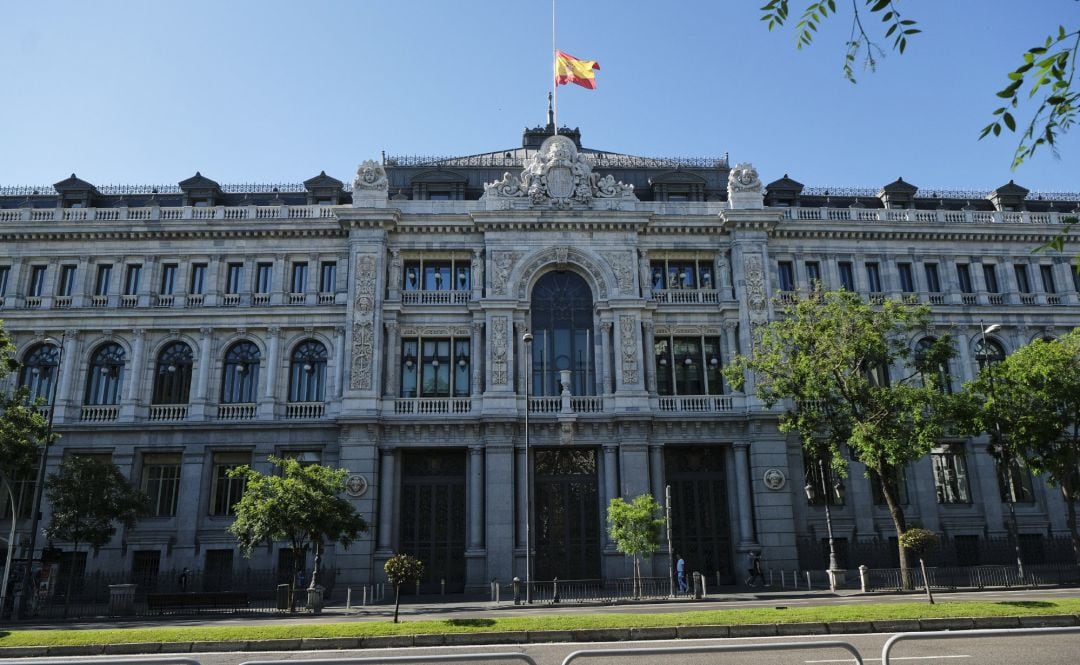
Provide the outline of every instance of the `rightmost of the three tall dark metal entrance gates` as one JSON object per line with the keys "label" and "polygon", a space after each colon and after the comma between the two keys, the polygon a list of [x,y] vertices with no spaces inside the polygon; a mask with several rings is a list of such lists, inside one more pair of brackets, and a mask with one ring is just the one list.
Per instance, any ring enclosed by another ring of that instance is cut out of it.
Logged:
{"label": "rightmost of the three tall dark metal entrance gates", "polygon": [[710,582],[732,584],[731,525],[725,485],[723,449],[718,446],[667,446],[664,466],[672,486],[672,540],[687,572],[697,570]]}

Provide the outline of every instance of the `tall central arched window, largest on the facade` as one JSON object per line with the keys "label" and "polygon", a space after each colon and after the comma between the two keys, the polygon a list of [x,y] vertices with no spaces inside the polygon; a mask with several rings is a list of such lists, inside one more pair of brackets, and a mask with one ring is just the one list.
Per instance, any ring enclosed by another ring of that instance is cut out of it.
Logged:
{"label": "tall central arched window, largest on the facade", "polygon": [[577,274],[549,272],[532,288],[534,395],[562,393],[559,372],[570,370],[570,392],[595,395],[593,293]]}

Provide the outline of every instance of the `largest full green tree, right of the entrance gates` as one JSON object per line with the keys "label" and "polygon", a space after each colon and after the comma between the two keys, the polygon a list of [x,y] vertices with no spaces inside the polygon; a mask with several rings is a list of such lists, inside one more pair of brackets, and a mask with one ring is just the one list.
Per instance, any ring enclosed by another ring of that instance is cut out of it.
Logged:
{"label": "largest full green tree, right of the entrance gates", "polygon": [[[910,341],[926,328],[929,308],[893,300],[869,306],[845,290],[813,293],[784,307],[754,340],[753,353],[734,358],[725,376],[741,390],[753,374],[766,406],[787,404],[779,426],[798,435],[811,463],[823,460],[845,475],[841,450],[850,450],[879,483],[903,535],[895,471],[927,454],[951,417],[940,371],[953,353],[948,337],[915,354]],[[890,377],[890,368],[901,376]],[[907,553],[899,547],[899,555],[906,582]]]}

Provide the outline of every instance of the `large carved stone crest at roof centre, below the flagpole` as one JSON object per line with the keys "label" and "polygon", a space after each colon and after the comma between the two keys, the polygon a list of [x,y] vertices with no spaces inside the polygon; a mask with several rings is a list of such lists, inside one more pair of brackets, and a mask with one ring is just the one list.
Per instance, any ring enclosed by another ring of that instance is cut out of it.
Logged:
{"label": "large carved stone crest at roof centre, below the flagpole", "polygon": [[[524,199],[532,205],[557,208],[590,207],[594,199],[636,201],[634,186],[599,177],[573,140],[561,135],[543,141],[525,162],[521,175],[505,173],[501,180],[484,186],[484,199]],[[508,207],[508,206],[503,206]]]}

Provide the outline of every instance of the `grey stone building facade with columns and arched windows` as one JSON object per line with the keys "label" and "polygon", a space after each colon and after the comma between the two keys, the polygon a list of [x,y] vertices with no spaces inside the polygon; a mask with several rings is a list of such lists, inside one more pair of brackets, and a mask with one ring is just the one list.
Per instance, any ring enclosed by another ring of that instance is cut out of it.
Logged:
{"label": "grey stone building facade with columns and arched windows", "polygon": [[[0,190],[0,315],[12,385],[56,382],[49,467],[109,456],[152,499],[87,569],[279,566],[283,544],[246,561],[225,531],[242,491],[225,472],[278,454],[349,470],[372,531],[332,547],[345,583],[408,552],[426,584],[476,591],[524,578],[527,543],[536,579],[623,576],[605,506],[669,486],[676,549],[730,582],[750,549],[791,570],[824,538],[798,443],[720,374],[755,326],[819,282],[927,302],[959,388],[986,325],[1004,354],[1080,323],[1067,257],[1031,253],[1077,200],[762,186],[750,164],[590,150],[551,124],[510,150],[366,161],[351,186],[72,175]],[[986,445],[905,470],[908,517],[976,548],[1004,533]],[[858,464],[847,485],[837,537],[888,539]],[[1064,532],[1059,496],[1021,487],[1018,531]]]}

